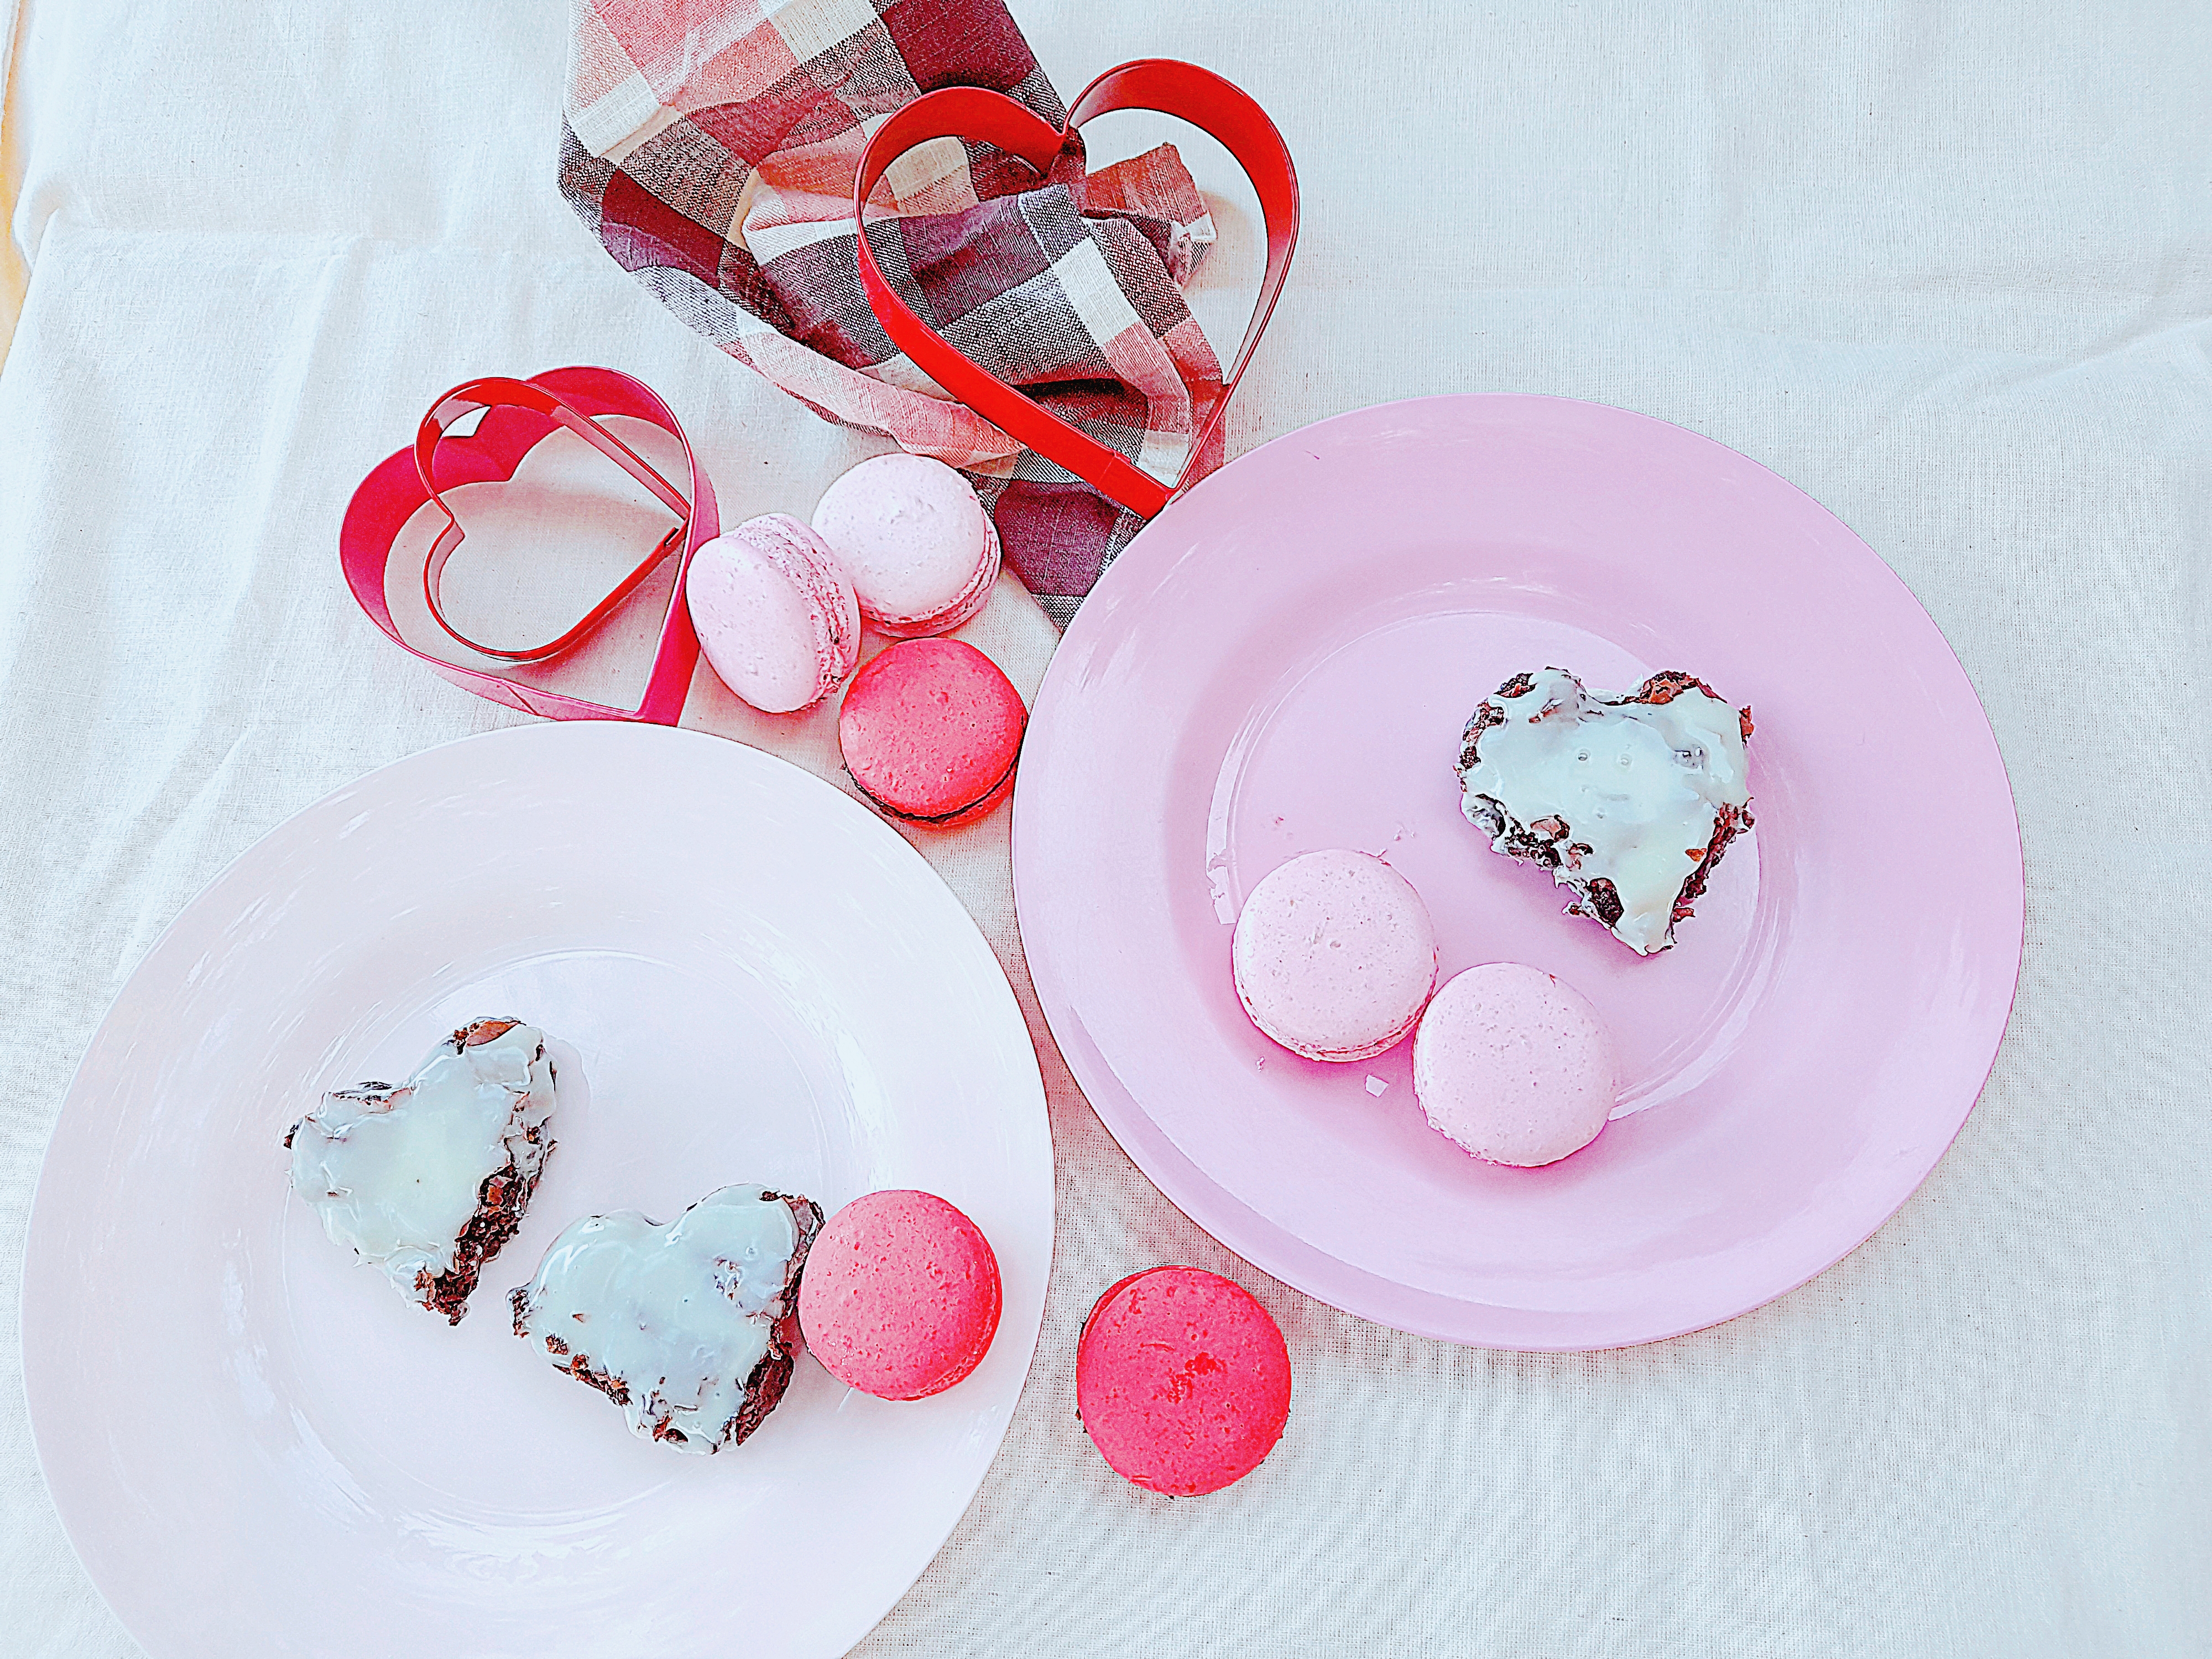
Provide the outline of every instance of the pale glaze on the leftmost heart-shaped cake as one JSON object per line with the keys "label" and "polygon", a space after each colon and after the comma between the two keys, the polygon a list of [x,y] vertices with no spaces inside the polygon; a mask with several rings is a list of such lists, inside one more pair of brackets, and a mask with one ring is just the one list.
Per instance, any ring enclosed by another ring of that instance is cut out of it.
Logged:
{"label": "pale glaze on the leftmost heart-shaped cake", "polygon": [[[473,1031],[507,1031],[465,1042]],[[292,1126],[292,1188],[334,1243],[392,1287],[425,1301],[451,1272],[484,1181],[509,1164],[529,1183],[553,1137],[553,1062],[538,1026],[478,1022],[440,1042],[400,1086],[361,1084],[323,1097]]]}

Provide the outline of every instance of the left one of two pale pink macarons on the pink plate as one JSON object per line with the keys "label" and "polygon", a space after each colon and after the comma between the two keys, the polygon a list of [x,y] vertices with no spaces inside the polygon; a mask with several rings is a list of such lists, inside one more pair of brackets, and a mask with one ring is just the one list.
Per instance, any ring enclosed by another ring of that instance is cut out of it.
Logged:
{"label": "left one of two pale pink macarons on the pink plate", "polygon": [[1237,916],[1230,969],[1252,1024],[1292,1053],[1371,1060],[1436,989],[1436,927],[1405,876],[1329,847],[1261,878]]}

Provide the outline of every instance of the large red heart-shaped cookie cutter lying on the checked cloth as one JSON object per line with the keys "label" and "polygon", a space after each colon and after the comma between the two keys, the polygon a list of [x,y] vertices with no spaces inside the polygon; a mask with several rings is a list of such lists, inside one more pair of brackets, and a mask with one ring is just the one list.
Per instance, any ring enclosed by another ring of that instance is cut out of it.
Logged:
{"label": "large red heart-shaped cookie cutter lying on the checked cloth", "polygon": [[1221,396],[1214,400],[1212,411],[1208,411],[1206,422],[1192,434],[1190,458],[1172,484],[1161,484],[1128,460],[1128,456],[1108,449],[989,369],[978,367],[973,358],[947,343],[942,334],[916,316],[914,307],[891,290],[891,283],[885,281],[883,270],[876,265],[876,252],[867,246],[867,237],[860,234],[856,241],[860,288],[867,292],[867,305],[876,312],[876,321],[883,323],[883,332],[891,336],[891,343],[914,358],[922,374],[1009,438],[1060,462],[1133,513],[1152,518],[1152,513],[1190,484],[1190,469],[1199,465],[1199,456],[1206,453],[1214,427],[1237,394],[1237,383],[1243,378],[1245,365],[1252,361],[1252,349],[1259,345],[1259,336],[1274,314],[1274,301],[1283,292],[1283,279],[1290,274],[1290,254],[1298,246],[1298,175],[1290,164],[1283,135],[1267,119],[1267,111],[1212,71],[1197,64],[1181,64],[1172,58],[1141,58],[1133,64],[1108,69],[1075,100],[1064,128],[1053,126],[1004,93],[989,93],[980,86],[945,86],[916,97],[876,128],[876,135],[860,153],[860,173],[852,186],[852,217],[856,228],[867,223],[863,210],[869,192],[889,166],[916,144],[940,137],[984,142],[1022,157],[1042,175],[1051,168],[1053,157],[1060,155],[1060,148],[1075,128],[1093,115],[1106,115],[1117,108],[1148,108],[1159,115],[1175,115],[1203,133],[1212,133],[1237,157],[1237,164],[1259,192],[1261,219],[1267,226],[1267,270],[1261,276],[1252,323],[1245,327],[1237,361],[1221,380]]}

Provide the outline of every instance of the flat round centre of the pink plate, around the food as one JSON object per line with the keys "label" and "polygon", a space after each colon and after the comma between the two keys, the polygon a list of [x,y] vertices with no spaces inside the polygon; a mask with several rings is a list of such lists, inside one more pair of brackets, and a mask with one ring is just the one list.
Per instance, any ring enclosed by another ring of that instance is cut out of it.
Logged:
{"label": "flat round centre of the pink plate, around the food", "polygon": [[[1562,916],[1573,894],[1548,872],[1489,849],[1460,812],[1453,765],[1475,703],[1524,668],[1568,668],[1619,692],[1659,668],[1697,672],[1697,664],[1652,664],[1553,617],[1429,608],[1433,593],[1411,602],[1420,608],[1367,617],[1287,666],[1230,741],[1203,854],[1223,971],[1228,927],[1270,869],[1301,852],[1356,847],[1420,891],[1444,978],[1478,962],[1528,962],[1597,1004],[1621,1053],[1615,1115],[1674,1099],[1725,1057],[1728,1033],[1772,960],[1778,916],[1761,905],[1759,832],[1728,849],[1674,949],[1639,958],[1597,922]],[[1453,668],[1438,672],[1438,664]],[[1752,794],[1756,805],[1756,741]],[[1394,1079],[1411,1073],[1411,1044],[1367,1068],[1316,1071]]]}

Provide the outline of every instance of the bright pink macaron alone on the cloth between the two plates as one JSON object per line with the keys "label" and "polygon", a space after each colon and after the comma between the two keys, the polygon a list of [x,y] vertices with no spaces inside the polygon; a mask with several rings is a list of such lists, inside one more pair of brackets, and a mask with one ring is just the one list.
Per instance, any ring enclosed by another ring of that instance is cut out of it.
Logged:
{"label": "bright pink macaron alone on the cloth between the two plates", "polygon": [[1075,1413],[1126,1480],[1197,1498],[1243,1480],[1290,1422],[1290,1349],[1252,1292],[1152,1267],[1099,1296],[1075,1349]]}

